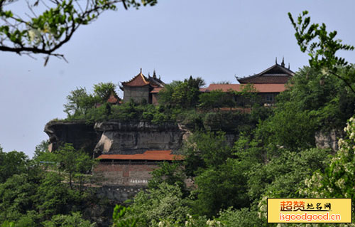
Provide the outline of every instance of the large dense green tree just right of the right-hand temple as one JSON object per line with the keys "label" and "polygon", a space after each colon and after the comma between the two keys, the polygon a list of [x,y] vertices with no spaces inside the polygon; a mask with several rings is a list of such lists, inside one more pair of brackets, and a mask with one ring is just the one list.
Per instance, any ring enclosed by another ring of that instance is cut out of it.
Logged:
{"label": "large dense green tree just right of the right-hand temple", "polygon": [[[339,75],[355,71],[339,68]],[[355,95],[342,80],[305,67],[290,80],[288,90],[278,95],[273,115],[258,126],[257,136],[265,147],[307,149],[315,146],[315,132],[344,127],[354,115]]]}

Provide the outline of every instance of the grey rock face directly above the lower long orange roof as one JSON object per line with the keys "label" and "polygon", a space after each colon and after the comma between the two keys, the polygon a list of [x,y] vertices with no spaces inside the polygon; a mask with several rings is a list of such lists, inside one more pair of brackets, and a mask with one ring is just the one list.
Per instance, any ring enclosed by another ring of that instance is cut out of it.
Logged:
{"label": "grey rock face directly above the lower long orange roof", "polygon": [[171,149],[182,144],[183,131],[174,123],[155,125],[150,122],[98,122],[94,125],[102,137],[94,149],[99,154],[141,154],[147,150]]}

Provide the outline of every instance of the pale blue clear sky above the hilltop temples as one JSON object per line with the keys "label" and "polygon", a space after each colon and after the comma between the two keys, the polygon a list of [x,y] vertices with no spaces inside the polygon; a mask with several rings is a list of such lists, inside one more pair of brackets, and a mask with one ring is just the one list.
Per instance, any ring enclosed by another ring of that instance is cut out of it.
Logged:
{"label": "pale blue clear sky above the hilltop temples", "polygon": [[[297,71],[308,56],[297,46],[288,12],[307,10],[312,22],[325,23],[343,43],[355,45],[354,9],[353,0],[158,0],[128,11],[119,5],[59,49],[69,63],[50,58],[44,67],[44,56],[0,52],[0,146],[33,157],[35,146],[48,139],[45,124],[66,117],[63,105],[71,90],[118,84],[140,68],[144,75],[155,70],[165,83],[192,75],[207,85],[237,83],[235,75],[260,73],[275,58],[280,63],[284,57]],[[355,52],[339,55],[355,63]]]}

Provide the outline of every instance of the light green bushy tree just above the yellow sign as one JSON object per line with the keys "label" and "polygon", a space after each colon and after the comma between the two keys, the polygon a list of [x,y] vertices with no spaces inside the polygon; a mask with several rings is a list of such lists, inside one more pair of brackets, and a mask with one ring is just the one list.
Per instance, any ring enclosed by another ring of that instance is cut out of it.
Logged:
{"label": "light green bushy tree just above the yellow sign", "polygon": [[267,164],[253,164],[246,175],[248,194],[258,203],[261,197],[297,198],[298,189],[306,187],[304,179],[314,171],[324,171],[329,164],[328,149],[305,149],[290,152],[283,149]]}

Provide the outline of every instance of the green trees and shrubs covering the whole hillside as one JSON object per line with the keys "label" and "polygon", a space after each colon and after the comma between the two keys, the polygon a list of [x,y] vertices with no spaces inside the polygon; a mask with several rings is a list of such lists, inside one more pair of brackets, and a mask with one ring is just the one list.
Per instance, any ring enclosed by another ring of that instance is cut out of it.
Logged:
{"label": "green trees and shrubs covering the whole hillside", "polygon": [[[159,106],[129,102],[107,107],[107,96],[102,95],[99,107],[85,109],[82,103],[87,102],[80,100],[70,110],[70,120],[180,121],[193,129],[182,147],[185,161],[162,164],[154,171],[148,191],[126,204],[129,208],[116,208],[116,226],[266,226],[266,197],[320,194],[355,199],[354,152],[344,153],[354,149],[355,120],[347,127],[346,122],[354,115],[355,95],[341,80],[302,68],[278,95],[276,107],[256,104],[250,114],[221,111],[220,106],[201,110],[200,93],[188,103],[168,102],[175,90],[181,94],[184,83],[188,80],[171,85]],[[83,97],[95,100],[92,104],[100,103],[98,95],[85,93],[82,89]],[[220,100],[221,93],[216,94]],[[338,152],[315,147],[315,132],[344,127],[348,136],[339,142]],[[226,143],[229,130],[239,134],[233,146]],[[94,164],[86,154],[70,145],[48,153],[42,144],[31,160],[16,151],[0,155],[2,226],[95,226],[93,219],[84,221],[89,216],[82,213],[87,204],[99,203],[94,191],[83,187],[92,182],[87,174]],[[186,188],[186,178],[195,186]]]}

